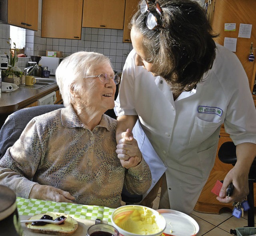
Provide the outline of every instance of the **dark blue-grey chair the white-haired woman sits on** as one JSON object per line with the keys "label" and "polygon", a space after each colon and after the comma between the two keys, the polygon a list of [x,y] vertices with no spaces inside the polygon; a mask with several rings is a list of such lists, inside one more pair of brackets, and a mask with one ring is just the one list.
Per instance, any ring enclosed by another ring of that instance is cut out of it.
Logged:
{"label": "dark blue-grey chair the white-haired woman sits on", "polygon": [[[9,115],[0,129],[0,159],[6,153],[8,147],[14,145],[16,140],[18,140],[22,131],[32,118],[62,107],[64,107],[64,105],[28,107]],[[106,113],[108,114],[108,111]],[[122,201],[126,202],[126,204],[136,204],[142,200],[142,195],[130,194],[125,188],[123,188],[121,197]]]}

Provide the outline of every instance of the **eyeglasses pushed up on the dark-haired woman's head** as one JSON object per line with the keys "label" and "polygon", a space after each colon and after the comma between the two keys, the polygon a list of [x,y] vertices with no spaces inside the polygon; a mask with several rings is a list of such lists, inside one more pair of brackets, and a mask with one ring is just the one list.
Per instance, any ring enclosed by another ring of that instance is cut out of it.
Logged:
{"label": "eyeglasses pushed up on the dark-haired woman's head", "polygon": [[[148,10],[148,2],[155,4],[154,10]],[[160,7],[158,0],[156,1],[150,1],[150,0],[141,0],[140,2],[140,12],[142,14],[148,12],[146,16],[146,25],[150,30],[154,30],[156,27],[161,27],[159,25],[160,22],[160,16],[162,15],[162,8]]]}

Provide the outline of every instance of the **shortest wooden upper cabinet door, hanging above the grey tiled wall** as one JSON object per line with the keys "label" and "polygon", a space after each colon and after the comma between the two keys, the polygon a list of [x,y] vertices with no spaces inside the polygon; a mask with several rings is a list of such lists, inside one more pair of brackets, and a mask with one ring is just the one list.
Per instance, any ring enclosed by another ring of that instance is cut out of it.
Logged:
{"label": "shortest wooden upper cabinet door, hanging above the grey tiled wall", "polygon": [[125,0],[84,0],[82,27],[122,30],[124,8]]}

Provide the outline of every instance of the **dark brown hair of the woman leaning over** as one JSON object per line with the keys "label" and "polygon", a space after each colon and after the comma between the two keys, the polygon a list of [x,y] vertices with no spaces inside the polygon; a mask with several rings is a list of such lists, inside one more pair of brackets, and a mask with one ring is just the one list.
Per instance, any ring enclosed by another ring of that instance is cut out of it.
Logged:
{"label": "dark brown hair of the woman leaning over", "polygon": [[[130,28],[142,34],[146,60],[163,77],[173,93],[190,91],[202,81],[215,59],[212,28],[204,9],[192,0],[158,0],[162,8],[160,26],[149,30],[146,13],[138,10]],[[138,6],[139,7],[139,6]],[[155,9],[149,4],[149,10]]]}

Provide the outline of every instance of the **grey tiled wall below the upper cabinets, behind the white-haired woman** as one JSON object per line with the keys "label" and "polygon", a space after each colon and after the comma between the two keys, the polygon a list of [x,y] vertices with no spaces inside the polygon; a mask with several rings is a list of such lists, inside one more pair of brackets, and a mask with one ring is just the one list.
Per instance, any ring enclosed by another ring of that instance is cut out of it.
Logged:
{"label": "grey tiled wall below the upper cabinets, behind the white-haired woman", "polygon": [[[82,28],[81,40],[41,38],[37,35],[38,32],[35,32],[36,56],[45,56],[46,50],[62,51],[64,56],[78,51],[98,52],[109,56],[114,70],[118,72],[122,71],[126,57],[132,50],[132,44],[122,42],[123,30]],[[27,44],[32,43],[27,41]]]}

